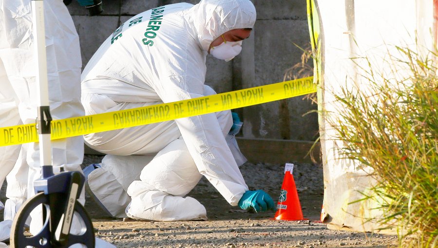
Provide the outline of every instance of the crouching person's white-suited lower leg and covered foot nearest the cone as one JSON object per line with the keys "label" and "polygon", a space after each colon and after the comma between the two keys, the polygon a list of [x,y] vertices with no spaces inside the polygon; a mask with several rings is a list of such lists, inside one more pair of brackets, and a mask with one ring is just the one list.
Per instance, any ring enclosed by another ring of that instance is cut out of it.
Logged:
{"label": "crouching person's white-suited lower leg and covered foot nearest the cone", "polygon": [[168,144],[129,185],[128,216],[155,221],[205,220],[205,208],[188,194],[201,179],[182,139]]}

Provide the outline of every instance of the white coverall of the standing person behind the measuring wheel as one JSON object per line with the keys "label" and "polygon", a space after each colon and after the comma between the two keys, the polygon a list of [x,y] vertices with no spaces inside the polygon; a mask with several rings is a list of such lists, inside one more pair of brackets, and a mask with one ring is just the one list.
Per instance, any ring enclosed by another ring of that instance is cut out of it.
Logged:
{"label": "white coverall of the standing person behind the measuring wheel", "polygon": [[[44,18],[51,115],[53,119],[83,116],[84,108],[80,103],[82,62],[73,20],[62,0],[44,0]],[[33,49],[31,0],[0,0],[1,126],[35,123],[38,86],[35,83]],[[54,141],[52,153],[55,173],[61,168],[81,171],[83,138]],[[33,182],[40,178],[38,143],[1,146],[0,166],[0,183],[7,175],[6,196],[9,198],[5,204],[4,221],[0,223],[2,241],[9,238],[11,220],[18,208],[27,197],[35,195]],[[79,201],[85,203],[84,193]],[[39,214],[34,211],[31,216],[40,219]],[[37,233],[40,224],[39,221],[31,221],[31,232]],[[74,225],[72,232],[77,231]],[[96,242],[99,247],[113,247],[100,240]]]}

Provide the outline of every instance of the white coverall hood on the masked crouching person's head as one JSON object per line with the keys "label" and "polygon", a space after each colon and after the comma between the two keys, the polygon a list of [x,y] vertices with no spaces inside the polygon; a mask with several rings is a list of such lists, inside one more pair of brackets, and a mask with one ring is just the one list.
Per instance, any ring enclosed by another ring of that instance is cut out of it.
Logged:
{"label": "white coverall hood on the masked crouching person's head", "polygon": [[256,22],[256,8],[250,0],[201,0],[187,14],[203,51],[223,33],[253,28]]}

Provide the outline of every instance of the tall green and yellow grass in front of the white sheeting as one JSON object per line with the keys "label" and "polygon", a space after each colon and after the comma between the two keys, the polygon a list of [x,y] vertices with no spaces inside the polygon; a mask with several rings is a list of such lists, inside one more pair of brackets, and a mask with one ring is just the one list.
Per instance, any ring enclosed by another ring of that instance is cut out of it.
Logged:
{"label": "tall green and yellow grass in front of the white sheeting", "polygon": [[374,221],[383,228],[396,225],[401,247],[433,248],[438,246],[438,54],[423,58],[410,49],[397,51],[386,61],[391,73],[373,71],[361,58],[366,68],[356,85],[367,86],[342,88],[336,96],[341,110],[329,123],[346,144],[344,155],[374,171],[378,183],[366,198],[381,202],[384,213]]}

